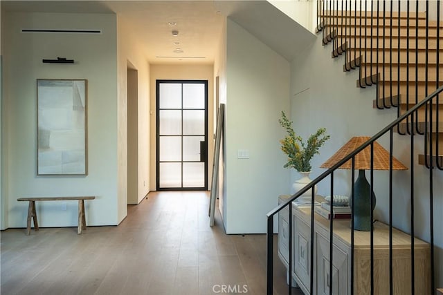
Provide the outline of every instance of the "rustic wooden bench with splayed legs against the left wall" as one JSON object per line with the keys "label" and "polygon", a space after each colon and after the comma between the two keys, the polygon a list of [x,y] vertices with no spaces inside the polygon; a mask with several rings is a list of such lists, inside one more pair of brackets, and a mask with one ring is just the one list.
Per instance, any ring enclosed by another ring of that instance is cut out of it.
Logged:
{"label": "rustic wooden bench with splayed legs against the left wall", "polygon": [[77,234],[82,234],[82,230],[86,230],[86,218],[84,216],[84,200],[93,200],[96,197],[43,197],[43,198],[18,198],[17,201],[29,201],[28,220],[26,234],[30,235],[30,220],[34,220],[34,230],[39,230],[39,222],[37,221],[37,213],[35,211],[35,201],[71,201],[78,200],[78,229]]}

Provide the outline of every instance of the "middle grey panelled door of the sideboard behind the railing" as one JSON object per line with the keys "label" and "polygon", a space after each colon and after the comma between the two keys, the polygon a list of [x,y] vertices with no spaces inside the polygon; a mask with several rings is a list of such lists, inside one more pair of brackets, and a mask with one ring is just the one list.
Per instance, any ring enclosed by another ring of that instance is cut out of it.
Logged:
{"label": "middle grey panelled door of the sideboard behind the railing", "polygon": [[[295,210],[294,210],[295,211]],[[311,285],[311,228],[296,214],[293,216],[293,277],[305,294]]]}

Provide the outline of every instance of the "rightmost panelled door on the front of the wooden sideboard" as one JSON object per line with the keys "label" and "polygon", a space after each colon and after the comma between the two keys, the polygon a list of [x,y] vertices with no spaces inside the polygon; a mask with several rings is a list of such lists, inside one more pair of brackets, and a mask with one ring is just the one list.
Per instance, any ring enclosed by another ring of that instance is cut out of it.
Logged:
{"label": "rightmost panelled door on the front of the wooden sideboard", "polygon": [[347,252],[339,249],[335,244],[332,246],[332,284],[329,281],[329,239],[316,232],[316,272],[317,294],[329,295],[332,285],[332,294],[349,294],[348,289],[348,256]]}

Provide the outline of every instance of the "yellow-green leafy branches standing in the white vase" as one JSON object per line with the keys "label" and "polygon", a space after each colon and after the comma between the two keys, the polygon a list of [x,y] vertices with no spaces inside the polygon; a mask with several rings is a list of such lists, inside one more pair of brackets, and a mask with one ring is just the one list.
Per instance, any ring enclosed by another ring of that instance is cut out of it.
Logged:
{"label": "yellow-green leafy branches standing in the white vase", "polygon": [[284,164],[284,168],[294,168],[299,172],[311,171],[311,158],[316,153],[320,153],[318,149],[326,140],[329,140],[329,135],[325,135],[326,129],[320,128],[314,134],[311,134],[307,140],[307,144],[302,141],[302,137],[296,135],[292,129],[292,122],[288,120],[282,111],[282,118],[278,120],[280,125],[286,129],[288,135],[280,140],[282,144],[283,153],[288,155],[288,162]]}

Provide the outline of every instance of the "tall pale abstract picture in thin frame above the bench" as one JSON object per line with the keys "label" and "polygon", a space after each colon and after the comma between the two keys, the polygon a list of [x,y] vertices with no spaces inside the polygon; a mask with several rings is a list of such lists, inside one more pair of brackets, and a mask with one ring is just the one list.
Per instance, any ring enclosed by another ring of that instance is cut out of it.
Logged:
{"label": "tall pale abstract picture in thin frame above the bench", "polygon": [[87,175],[86,79],[37,79],[37,175]]}

